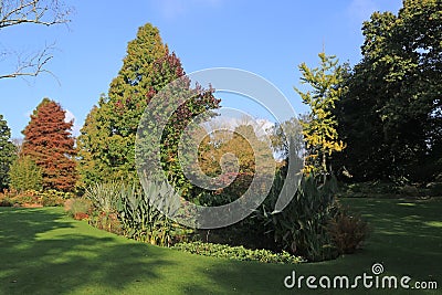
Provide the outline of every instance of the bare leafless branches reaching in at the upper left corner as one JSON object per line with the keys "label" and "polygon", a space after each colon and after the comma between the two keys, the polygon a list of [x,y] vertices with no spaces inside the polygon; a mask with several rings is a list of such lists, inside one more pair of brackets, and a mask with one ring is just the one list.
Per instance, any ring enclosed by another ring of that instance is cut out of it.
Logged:
{"label": "bare leafless branches reaching in at the upper left corner", "polygon": [[[59,0],[0,0],[0,31],[18,24],[30,23],[41,25],[53,25],[69,23],[67,17],[72,9]],[[42,51],[27,59],[18,57],[15,70],[12,73],[1,74],[0,78],[12,78],[19,76],[36,76],[41,73],[50,73],[45,65],[53,55],[53,46],[45,46]],[[4,53],[2,53],[3,55]]]}

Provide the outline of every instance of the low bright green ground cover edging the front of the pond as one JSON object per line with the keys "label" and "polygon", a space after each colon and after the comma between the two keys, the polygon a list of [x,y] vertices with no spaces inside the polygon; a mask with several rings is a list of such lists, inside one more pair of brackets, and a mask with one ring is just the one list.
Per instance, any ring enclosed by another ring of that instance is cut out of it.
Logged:
{"label": "low bright green ground cover edging the front of the pond", "polygon": [[250,250],[243,246],[229,246],[223,244],[212,244],[202,242],[178,243],[172,246],[183,252],[199,254],[204,256],[239,260],[239,261],[259,261],[265,263],[301,263],[302,257],[293,256],[287,252],[273,253],[269,250]]}

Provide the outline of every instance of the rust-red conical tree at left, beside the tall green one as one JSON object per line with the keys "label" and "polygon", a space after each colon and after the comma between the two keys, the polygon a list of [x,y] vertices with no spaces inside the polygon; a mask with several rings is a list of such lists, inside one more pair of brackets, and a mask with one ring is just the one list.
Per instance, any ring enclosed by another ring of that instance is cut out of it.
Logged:
{"label": "rust-red conical tree at left, beside the tall green one", "polygon": [[65,113],[60,104],[44,98],[22,131],[22,155],[41,168],[43,189],[72,191],[75,187],[73,122],[65,122]]}

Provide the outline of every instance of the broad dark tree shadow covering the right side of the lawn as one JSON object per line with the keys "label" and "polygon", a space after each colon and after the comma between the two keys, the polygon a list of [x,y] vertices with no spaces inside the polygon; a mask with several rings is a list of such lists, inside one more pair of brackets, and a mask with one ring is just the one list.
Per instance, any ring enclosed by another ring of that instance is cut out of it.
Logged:
{"label": "broad dark tree shadow covering the right side of the lawn", "polygon": [[[368,289],[359,286],[357,289],[308,289],[303,284],[302,289],[287,289],[284,278],[292,271],[297,276],[322,275],[334,277],[347,275],[355,278],[367,273],[372,275],[371,266],[381,263],[385,275],[401,278],[412,277],[412,283],[438,282],[440,289],[442,280],[442,200],[346,200],[346,204],[359,211],[372,228],[367,244],[354,255],[345,255],[336,261],[305,263],[297,265],[269,265],[256,263],[225,263],[200,272],[211,277],[229,294],[440,294],[434,289]],[[189,289],[199,294],[211,294],[211,289],[190,286]],[[188,294],[192,294],[189,292]]]}

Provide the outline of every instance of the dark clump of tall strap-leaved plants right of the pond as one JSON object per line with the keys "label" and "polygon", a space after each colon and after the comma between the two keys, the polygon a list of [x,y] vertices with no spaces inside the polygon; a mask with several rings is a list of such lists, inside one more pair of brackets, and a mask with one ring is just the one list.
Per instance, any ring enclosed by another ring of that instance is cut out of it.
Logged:
{"label": "dark clump of tall strap-leaved plants right of the pond", "polygon": [[334,201],[336,179],[333,177],[319,186],[313,175],[303,177],[293,200],[282,212],[271,210],[284,183],[283,176],[277,175],[274,183],[272,193],[260,210],[267,233],[273,233],[281,249],[308,261],[335,259],[338,253],[328,235],[327,225],[337,211]]}

